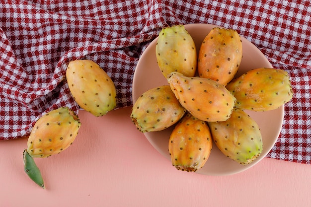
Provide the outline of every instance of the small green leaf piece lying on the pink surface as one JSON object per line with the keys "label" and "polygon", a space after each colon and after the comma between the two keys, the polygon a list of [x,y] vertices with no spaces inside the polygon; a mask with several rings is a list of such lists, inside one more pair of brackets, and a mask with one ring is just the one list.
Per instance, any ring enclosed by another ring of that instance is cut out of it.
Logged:
{"label": "small green leaf piece lying on the pink surface", "polygon": [[33,180],[36,184],[45,189],[41,172],[36,165],[33,157],[29,155],[26,149],[23,152],[23,160],[25,173],[29,176],[31,180]]}

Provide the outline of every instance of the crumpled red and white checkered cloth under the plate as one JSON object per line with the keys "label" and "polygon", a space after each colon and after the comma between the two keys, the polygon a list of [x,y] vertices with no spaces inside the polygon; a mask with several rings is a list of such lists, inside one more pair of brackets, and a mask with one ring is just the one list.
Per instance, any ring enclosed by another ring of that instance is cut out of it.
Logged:
{"label": "crumpled red and white checkered cloth under the plate", "polygon": [[292,78],[283,128],[267,155],[311,164],[310,0],[1,0],[0,140],[29,134],[42,113],[69,106],[71,60],[98,63],[132,105],[135,66],[162,27],[210,23],[233,28]]}

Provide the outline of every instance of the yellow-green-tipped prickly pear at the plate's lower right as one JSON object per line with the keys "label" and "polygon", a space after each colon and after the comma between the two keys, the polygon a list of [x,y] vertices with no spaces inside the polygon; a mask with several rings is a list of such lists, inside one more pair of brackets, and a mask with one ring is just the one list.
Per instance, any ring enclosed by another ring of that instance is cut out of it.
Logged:
{"label": "yellow-green-tipped prickly pear at the plate's lower right", "polygon": [[216,146],[240,164],[249,164],[262,153],[260,129],[246,112],[234,108],[227,121],[209,122],[208,125]]}

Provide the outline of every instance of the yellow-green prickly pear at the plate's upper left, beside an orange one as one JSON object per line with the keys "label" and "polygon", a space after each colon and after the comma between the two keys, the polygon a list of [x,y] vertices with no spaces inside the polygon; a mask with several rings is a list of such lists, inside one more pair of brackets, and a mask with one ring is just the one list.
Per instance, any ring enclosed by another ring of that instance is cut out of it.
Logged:
{"label": "yellow-green prickly pear at the plate's upper left, beside an orange one", "polygon": [[173,71],[194,76],[197,51],[192,37],[183,25],[162,28],[156,42],[156,61],[165,78]]}

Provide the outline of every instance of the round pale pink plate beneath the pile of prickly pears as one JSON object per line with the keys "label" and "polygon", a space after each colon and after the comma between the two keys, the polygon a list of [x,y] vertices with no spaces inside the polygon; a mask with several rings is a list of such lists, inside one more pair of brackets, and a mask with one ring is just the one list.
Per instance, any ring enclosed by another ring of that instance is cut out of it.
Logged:
{"label": "round pale pink plate beneath the pile of prickly pears", "polygon": [[[188,24],[184,26],[192,36],[197,50],[199,50],[203,39],[209,31],[213,27],[218,27],[211,24]],[[160,85],[168,85],[156,63],[156,40],[157,38],[146,48],[135,69],[132,94],[133,103],[135,103],[138,97],[145,91]],[[258,48],[243,37],[241,37],[241,40],[243,58],[236,74],[237,76],[250,69],[261,67],[272,68],[269,61]],[[239,173],[254,166],[268,154],[281,132],[284,118],[284,105],[278,109],[268,112],[246,112],[257,122],[261,129],[263,141],[262,154],[252,163],[248,165],[241,165],[226,157],[216,147],[216,145],[213,144],[213,149],[209,159],[205,163],[204,167],[199,169],[196,173],[205,175],[230,175]],[[156,150],[169,160],[168,138],[171,131],[172,127],[160,132],[144,133],[146,138],[156,148]],[[168,164],[167,167],[173,166]]]}

